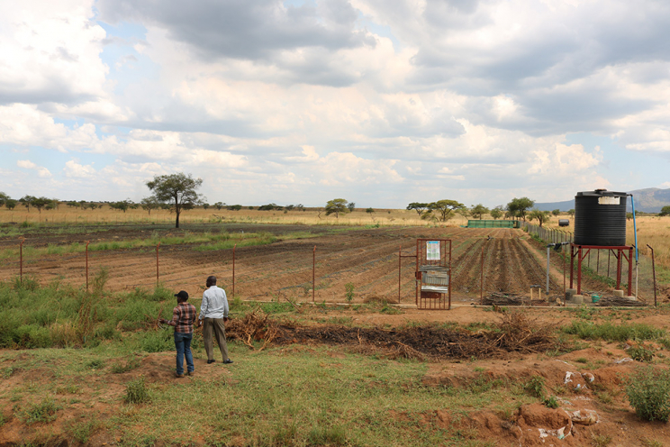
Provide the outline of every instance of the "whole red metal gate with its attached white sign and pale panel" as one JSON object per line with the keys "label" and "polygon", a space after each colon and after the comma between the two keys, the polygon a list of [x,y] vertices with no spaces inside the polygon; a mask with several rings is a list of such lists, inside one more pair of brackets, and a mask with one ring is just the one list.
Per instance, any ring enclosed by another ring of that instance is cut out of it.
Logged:
{"label": "whole red metal gate with its attached white sign and pale panel", "polygon": [[451,309],[451,240],[416,240],[416,306]]}

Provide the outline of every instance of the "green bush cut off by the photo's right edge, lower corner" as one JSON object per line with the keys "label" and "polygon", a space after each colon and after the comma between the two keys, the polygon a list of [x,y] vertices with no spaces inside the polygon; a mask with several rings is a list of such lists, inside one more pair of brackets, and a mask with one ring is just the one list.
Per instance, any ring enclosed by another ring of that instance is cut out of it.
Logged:
{"label": "green bush cut off by the photo's right edge, lower corner", "polygon": [[670,370],[638,368],[626,380],[626,395],[636,414],[647,421],[670,417]]}

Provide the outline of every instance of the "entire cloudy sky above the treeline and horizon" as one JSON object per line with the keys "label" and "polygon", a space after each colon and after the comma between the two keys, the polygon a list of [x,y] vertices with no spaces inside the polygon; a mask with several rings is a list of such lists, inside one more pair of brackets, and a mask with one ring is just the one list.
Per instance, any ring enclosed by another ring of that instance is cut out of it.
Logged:
{"label": "entire cloudy sky above the treeline and horizon", "polygon": [[670,187],[670,3],[0,2],[0,191],[402,208]]}

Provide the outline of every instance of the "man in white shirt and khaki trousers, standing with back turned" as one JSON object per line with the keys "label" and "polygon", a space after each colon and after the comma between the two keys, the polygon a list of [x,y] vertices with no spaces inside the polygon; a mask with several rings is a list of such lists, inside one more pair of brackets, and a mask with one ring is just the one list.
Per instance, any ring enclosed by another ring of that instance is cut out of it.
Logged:
{"label": "man in white shirt and khaki trousers, standing with back turned", "polygon": [[216,286],[216,277],[207,278],[207,289],[203,293],[203,303],[200,305],[198,325],[203,325],[204,351],[207,352],[207,363],[214,362],[212,333],[216,335],[216,342],[223,358],[223,363],[232,363],[228,358],[226,345],[226,331],[224,323],[228,321],[228,298],[221,287]]}

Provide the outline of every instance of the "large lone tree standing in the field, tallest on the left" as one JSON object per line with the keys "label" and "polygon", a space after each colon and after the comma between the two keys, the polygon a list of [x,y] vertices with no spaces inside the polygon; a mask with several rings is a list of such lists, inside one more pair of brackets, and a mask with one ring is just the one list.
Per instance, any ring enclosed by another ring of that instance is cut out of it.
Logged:
{"label": "large lone tree standing in the field, tallest on the left", "polygon": [[192,178],[191,174],[186,176],[180,172],[154,176],[153,180],[147,182],[147,187],[153,191],[158,201],[170,203],[170,212],[177,215],[175,228],[179,228],[179,215],[202,202],[202,196],[196,192],[202,184],[202,178]]}

